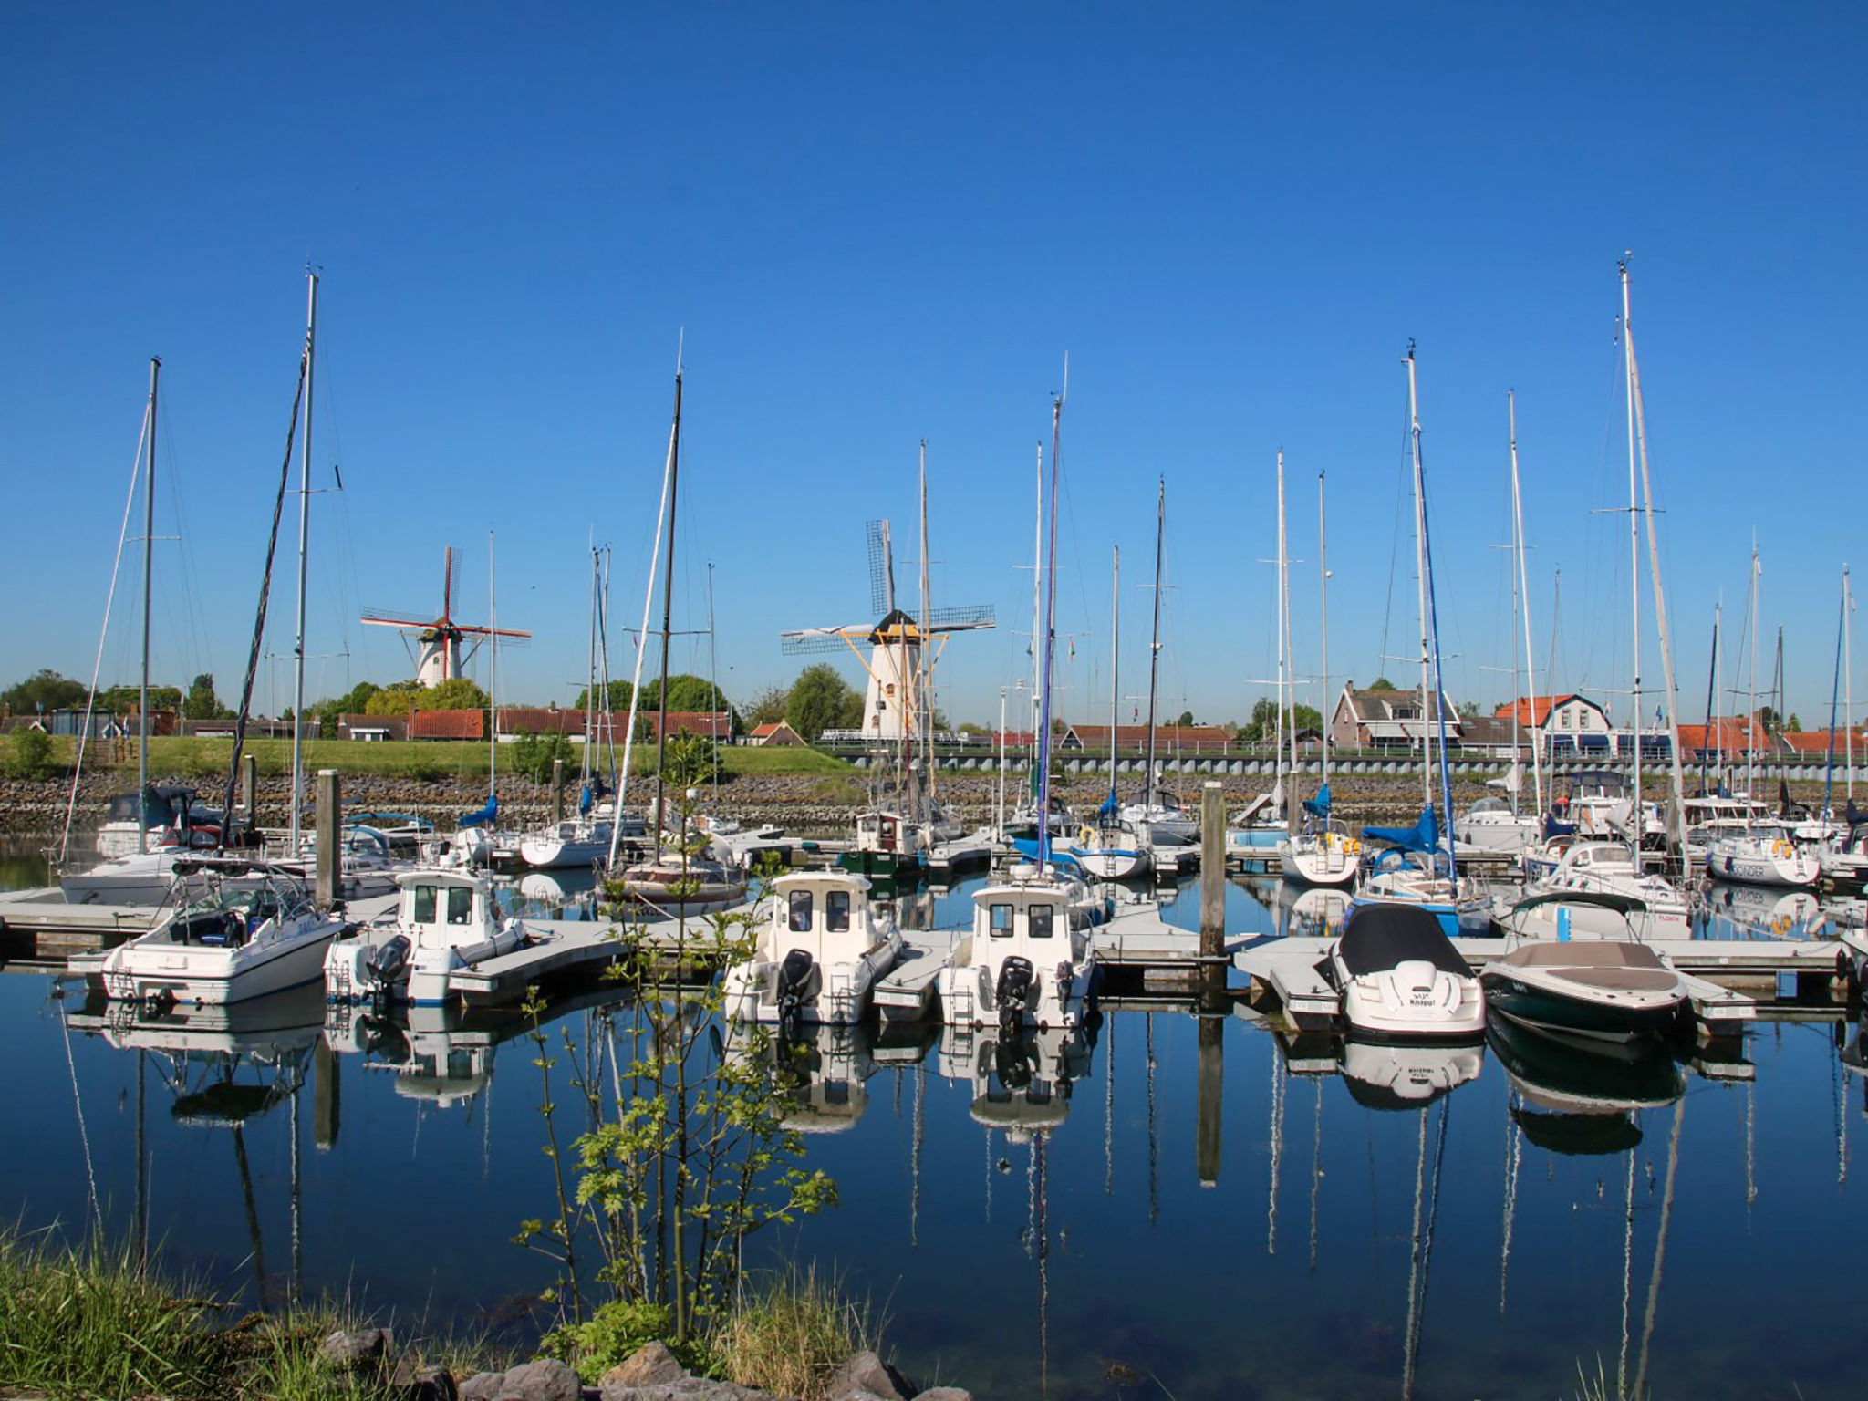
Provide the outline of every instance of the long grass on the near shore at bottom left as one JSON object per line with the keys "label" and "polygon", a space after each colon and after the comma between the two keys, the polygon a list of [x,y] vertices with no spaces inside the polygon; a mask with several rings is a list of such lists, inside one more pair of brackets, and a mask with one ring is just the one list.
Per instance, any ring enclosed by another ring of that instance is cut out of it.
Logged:
{"label": "long grass on the near shore at bottom left", "polygon": [[[394,1321],[361,1319],[329,1302],[237,1315],[127,1248],[0,1231],[0,1397],[389,1401],[437,1367],[463,1380],[525,1360],[488,1339],[411,1337],[402,1326],[392,1326],[396,1341],[381,1367],[344,1371],[319,1354],[333,1334],[372,1324]],[[605,1324],[600,1313],[590,1324],[560,1328],[540,1354],[596,1382],[656,1336]],[[777,1274],[745,1289],[730,1315],[684,1349],[684,1362],[697,1375],[811,1401],[846,1358],[874,1341],[865,1306],[814,1274]]]}

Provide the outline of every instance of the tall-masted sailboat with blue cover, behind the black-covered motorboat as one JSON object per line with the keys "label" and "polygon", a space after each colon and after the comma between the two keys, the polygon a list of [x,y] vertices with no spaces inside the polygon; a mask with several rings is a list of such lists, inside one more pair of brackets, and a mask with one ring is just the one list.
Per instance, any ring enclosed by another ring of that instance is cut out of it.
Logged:
{"label": "tall-masted sailboat with blue cover, behind the black-covered motorboat", "polygon": [[[1414,465],[1414,547],[1420,575],[1420,757],[1425,803],[1412,828],[1364,828],[1364,841],[1388,842],[1392,850],[1364,859],[1354,906],[1401,904],[1427,910],[1446,934],[1485,934],[1491,906],[1468,880],[1461,880],[1451,842],[1442,842],[1435,811],[1451,811],[1446,771],[1446,691],[1440,686],[1440,637],[1433,601],[1433,549],[1427,534],[1427,478],[1420,456],[1420,398],[1414,383],[1414,344],[1407,351],[1408,443]],[[1438,734],[1438,794],[1435,794],[1435,736]]]}

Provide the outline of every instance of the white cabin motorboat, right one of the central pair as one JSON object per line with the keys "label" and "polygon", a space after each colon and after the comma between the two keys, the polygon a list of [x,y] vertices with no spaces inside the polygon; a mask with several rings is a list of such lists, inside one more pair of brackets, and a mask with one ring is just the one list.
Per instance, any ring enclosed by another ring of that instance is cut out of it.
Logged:
{"label": "white cabin motorboat, right one of the central pair", "polygon": [[1078,1026],[1097,977],[1082,884],[1033,863],[973,891],[973,927],[936,973],[949,1026]]}

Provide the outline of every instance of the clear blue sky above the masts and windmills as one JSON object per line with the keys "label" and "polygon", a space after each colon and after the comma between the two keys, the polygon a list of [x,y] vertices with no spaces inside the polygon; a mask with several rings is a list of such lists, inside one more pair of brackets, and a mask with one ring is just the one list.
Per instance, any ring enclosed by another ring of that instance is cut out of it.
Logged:
{"label": "clear blue sky above the masts and windmills", "polygon": [[[314,450],[347,488],[314,501],[312,697],[409,672],[355,615],[439,605],[448,544],[484,615],[497,531],[499,618],[536,639],[502,699],[570,700],[592,534],[618,622],[641,611],[682,329],[676,626],[704,628],[712,560],[740,699],[800,669],[783,628],[863,618],[867,519],[895,521],[912,577],[925,437],[936,603],[1001,622],[949,648],[943,704],[996,719],[1027,665],[1065,351],[1067,714],[1102,714],[1111,544],[1123,691],[1145,689],[1128,585],[1158,474],[1168,706],[1250,712],[1276,665],[1280,446],[1298,669],[1328,471],[1330,669],[1405,684],[1382,652],[1414,637],[1408,338],[1450,691],[1511,689],[1491,545],[1515,389],[1537,665],[1562,568],[1552,682],[1606,697],[1629,672],[1627,516],[1597,512],[1625,506],[1631,248],[1683,715],[1720,596],[1743,684],[1756,532],[1762,671],[1782,626],[1814,727],[1868,441],[1864,71],[1855,4],[9,6],[0,684],[90,674],[161,355],[157,532],[183,540],[157,545],[157,671],[237,687],[310,260]],[[278,654],[291,588],[282,559]],[[105,680],[134,669],[118,616]],[[1649,687],[1651,616],[1644,590]],[[628,674],[620,635],[615,658]],[[260,702],[290,702],[284,665]]]}

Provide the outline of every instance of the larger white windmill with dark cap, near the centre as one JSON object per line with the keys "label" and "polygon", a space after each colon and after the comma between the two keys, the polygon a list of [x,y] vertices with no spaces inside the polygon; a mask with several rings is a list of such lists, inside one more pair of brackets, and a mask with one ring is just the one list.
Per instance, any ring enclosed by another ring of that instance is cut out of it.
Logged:
{"label": "larger white windmill with dark cap, near the centre", "polygon": [[[923,553],[927,553],[923,549]],[[925,572],[923,572],[925,573]],[[927,585],[923,581],[923,596]],[[779,633],[785,656],[807,652],[842,652],[850,648],[869,672],[863,697],[863,738],[874,743],[899,743],[919,734],[923,697],[932,691],[927,678],[947,644],[949,633],[992,628],[992,605],[925,609],[927,620],[917,622],[895,603],[895,549],[887,521],[869,523],[869,605],[880,615],[874,624],[846,628],[801,628]],[[863,643],[869,656],[863,656]],[[923,652],[932,656],[923,669]]]}

